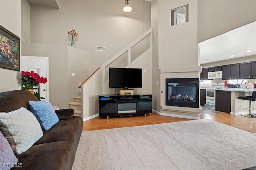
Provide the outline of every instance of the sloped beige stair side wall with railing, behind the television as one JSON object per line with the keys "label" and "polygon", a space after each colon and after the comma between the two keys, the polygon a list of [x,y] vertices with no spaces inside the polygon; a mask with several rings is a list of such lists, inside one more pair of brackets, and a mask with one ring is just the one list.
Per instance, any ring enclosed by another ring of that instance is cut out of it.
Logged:
{"label": "sloped beige stair side wall with railing, behind the television", "polygon": [[[137,47],[138,45],[138,47]],[[136,46],[136,47],[135,47]],[[135,56],[131,56],[133,47],[139,53]],[[123,62],[125,61],[126,62]],[[147,62],[147,64],[142,64]],[[143,65],[143,66],[142,66]],[[147,77],[148,82],[152,82],[152,28],[148,29],[129,45],[124,47],[121,51],[116,53],[113,57],[108,59],[97,70],[92,73],[80,86],[82,88],[81,96],[83,97],[82,103],[82,116],[84,119],[92,119],[98,116],[98,107],[95,106],[98,103],[99,94],[114,94],[114,89],[109,88],[109,68],[110,67],[122,67],[122,68],[144,68],[144,76]],[[146,72],[146,69],[151,70]],[[95,86],[95,84],[99,84]],[[151,83],[152,84],[152,83]],[[94,87],[94,88],[92,88]],[[152,85],[148,89],[152,89]],[[81,104],[80,104],[81,106]]]}

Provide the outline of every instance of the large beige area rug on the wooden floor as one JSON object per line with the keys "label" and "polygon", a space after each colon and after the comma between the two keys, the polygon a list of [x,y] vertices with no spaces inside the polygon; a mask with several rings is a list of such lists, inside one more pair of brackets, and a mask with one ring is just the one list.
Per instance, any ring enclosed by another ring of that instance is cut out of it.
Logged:
{"label": "large beige area rug on the wooden floor", "polygon": [[212,121],[83,132],[73,170],[241,170],[256,166],[256,135]]}

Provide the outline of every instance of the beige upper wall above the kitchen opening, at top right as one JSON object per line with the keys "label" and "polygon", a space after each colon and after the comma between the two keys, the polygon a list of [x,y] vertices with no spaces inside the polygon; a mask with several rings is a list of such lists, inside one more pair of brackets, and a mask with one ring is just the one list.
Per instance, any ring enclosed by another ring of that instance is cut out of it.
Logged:
{"label": "beige upper wall above the kitchen opening, at top right", "polygon": [[198,42],[256,20],[256,0],[198,0]]}

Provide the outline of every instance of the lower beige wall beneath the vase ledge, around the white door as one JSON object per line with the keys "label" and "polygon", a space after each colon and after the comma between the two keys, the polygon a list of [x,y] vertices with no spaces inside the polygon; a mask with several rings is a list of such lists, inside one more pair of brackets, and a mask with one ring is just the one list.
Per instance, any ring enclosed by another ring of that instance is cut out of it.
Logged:
{"label": "lower beige wall beneath the vase ledge, around the white door", "polygon": [[22,42],[22,47],[24,56],[49,57],[49,102],[60,109],[68,108],[68,103],[80,96],[79,82],[89,76],[88,52],[66,45],[40,43]]}

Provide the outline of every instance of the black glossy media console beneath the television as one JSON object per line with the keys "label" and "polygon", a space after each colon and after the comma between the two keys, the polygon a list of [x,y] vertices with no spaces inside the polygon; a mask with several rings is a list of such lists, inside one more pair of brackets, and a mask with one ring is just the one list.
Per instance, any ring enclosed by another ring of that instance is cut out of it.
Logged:
{"label": "black glossy media console beneath the television", "polygon": [[129,96],[99,95],[99,115],[130,116],[152,113],[152,94],[135,94]]}

